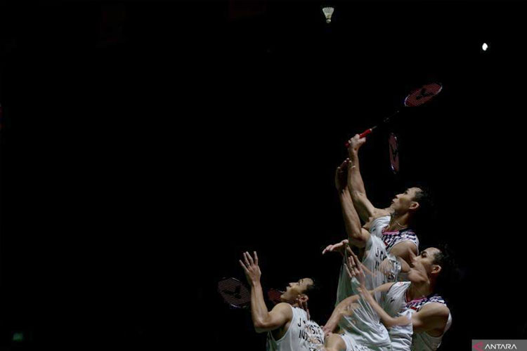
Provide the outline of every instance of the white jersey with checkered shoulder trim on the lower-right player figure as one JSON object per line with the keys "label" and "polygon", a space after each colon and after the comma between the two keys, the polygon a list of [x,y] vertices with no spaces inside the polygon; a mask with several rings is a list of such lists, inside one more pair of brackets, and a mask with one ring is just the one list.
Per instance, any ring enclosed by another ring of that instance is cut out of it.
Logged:
{"label": "white jersey with checkered shoulder trim on the lower-right player figure", "polygon": [[[438,295],[407,302],[405,296],[410,284],[410,282],[397,282],[393,284],[386,293],[386,298],[382,307],[386,313],[391,315],[391,317],[406,315],[411,319],[413,313],[419,312],[419,310],[428,303],[442,303],[443,305],[446,305],[445,300]],[[450,328],[450,324],[452,324],[452,315],[448,314],[448,322],[445,326],[445,330],[443,331],[443,334],[438,337],[430,336],[426,332],[413,333],[412,336],[412,324],[408,324],[408,326],[393,327],[389,330],[392,345],[394,345],[393,350],[436,351],[441,345],[443,335]],[[408,345],[409,341],[411,342],[411,345]],[[403,348],[396,348],[396,343]]]}

